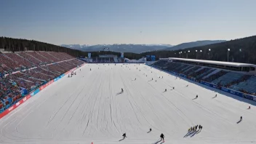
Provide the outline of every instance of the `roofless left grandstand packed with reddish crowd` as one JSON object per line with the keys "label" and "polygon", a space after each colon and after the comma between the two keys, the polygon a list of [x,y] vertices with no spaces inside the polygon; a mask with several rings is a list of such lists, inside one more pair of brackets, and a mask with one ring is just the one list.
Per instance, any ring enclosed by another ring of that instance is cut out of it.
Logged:
{"label": "roofless left grandstand packed with reddish crowd", "polygon": [[83,64],[64,52],[1,52],[0,113],[34,89]]}

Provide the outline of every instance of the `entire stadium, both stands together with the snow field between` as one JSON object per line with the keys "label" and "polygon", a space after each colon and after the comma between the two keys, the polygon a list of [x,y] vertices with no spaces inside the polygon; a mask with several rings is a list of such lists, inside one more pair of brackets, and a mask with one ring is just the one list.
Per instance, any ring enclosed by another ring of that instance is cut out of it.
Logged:
{"label": "entire stadium, both stands together with the snow field between", "polygon": [[256,141],[256,65],[154,58],[1,52],[0,143]]}

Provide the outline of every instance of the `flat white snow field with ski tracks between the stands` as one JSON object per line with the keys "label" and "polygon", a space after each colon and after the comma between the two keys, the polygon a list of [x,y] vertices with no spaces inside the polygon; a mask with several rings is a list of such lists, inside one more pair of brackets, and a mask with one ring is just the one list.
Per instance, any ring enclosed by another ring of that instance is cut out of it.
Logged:
{"label": "flat white snow field with ski tracks between the stands", "polygon": [[165,143],[256,143],[256,103],[175,78],[143,64],[84,65],[0,119],[0,143],[147,144],[161,133]]}

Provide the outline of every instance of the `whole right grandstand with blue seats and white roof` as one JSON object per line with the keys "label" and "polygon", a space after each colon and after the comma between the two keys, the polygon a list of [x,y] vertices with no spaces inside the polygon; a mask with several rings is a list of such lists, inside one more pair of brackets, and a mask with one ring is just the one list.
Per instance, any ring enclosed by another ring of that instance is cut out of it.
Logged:
{"label": "whole right grandstand with blue seats and white roof", "polygon": [[256,74],[256,65],[170,57],[153,63],[153,66],[195,81],[207,81],[217,87],[226,87],[249,95],[256,93],[256,77],[253,76]]}

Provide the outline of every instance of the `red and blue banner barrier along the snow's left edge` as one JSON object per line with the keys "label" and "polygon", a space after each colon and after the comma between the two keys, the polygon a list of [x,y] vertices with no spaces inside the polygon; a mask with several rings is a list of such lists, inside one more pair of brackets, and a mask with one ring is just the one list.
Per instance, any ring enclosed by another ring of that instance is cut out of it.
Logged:
{"label": "red and blue banner barrier along the snow's left edge", "polygon": [[[80,66],[85,65],[82,64]],[[33,92],[29,93],[28,95],[26,95],[25,97],[23,97],[21,100],[19,100],[17,103],[13,104],[13,105],[6,105],[6,109],[4,110],[4,108],[0,109],[0,119],[4,116],[6,116],[8,113],[10,113],[11,111],[15,110],[15,108],[17,108],[19,105],[21,105],[22,103],[25,103],[26,100],[28,100],[29,98],[33,97],[34,95],[36,95],[37,93],[39,93],[42,89],[48,87],[50,84],[52,84],[53,82],[63,78],[63,76],[67,75],[68,73],[70,73],[71,71],[76,70],[76,68],[71,69],[70,71],[65,72],[64,74],[58,76],[57,78],[48,81],[46,84],[42,85],[41,87],[39,87],[38,89],[35,89]]]}

